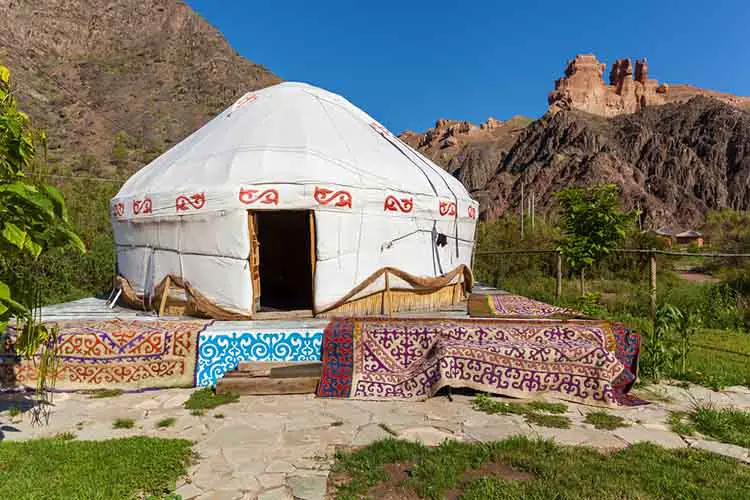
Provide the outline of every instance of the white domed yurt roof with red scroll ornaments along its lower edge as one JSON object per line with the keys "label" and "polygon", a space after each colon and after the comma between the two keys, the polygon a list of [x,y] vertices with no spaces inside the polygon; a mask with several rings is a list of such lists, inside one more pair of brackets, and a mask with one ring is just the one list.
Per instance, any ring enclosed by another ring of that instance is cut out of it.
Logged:
{"label": "white domed yurt roof with red scroll ornaments along its lower edge", "polygon": [[336,197],[343,192],[349,208],[382,210],[391,196],[430,212],[454,203],[476,214],[456,178],[368,114],[339,95],[290,82],[242,96],[134,174],[112,207],[121,219],[250,204],[305,208],[327,197],[343,207],[347,198]]}

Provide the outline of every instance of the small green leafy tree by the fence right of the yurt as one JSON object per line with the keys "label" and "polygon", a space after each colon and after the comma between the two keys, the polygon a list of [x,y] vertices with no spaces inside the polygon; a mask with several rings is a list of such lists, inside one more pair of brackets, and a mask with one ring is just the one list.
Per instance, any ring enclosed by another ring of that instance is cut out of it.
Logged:
{"label": "small green leafy tree by the fence right of the yurt", "polygon": [[572,269],[580,272],[582,296],[586,293],[585,270],[609,255],[635,221],[635,212],[619,209],[619,194],[614,184],[567,188],[557,193],[564,235],[558,251]]}

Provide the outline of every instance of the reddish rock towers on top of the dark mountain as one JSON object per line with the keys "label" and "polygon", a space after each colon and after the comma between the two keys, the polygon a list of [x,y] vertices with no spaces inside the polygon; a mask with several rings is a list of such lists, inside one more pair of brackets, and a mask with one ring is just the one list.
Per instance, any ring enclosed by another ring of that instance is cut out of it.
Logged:
{"label": "reddish rock towers on top of the dark mountain", "polygon": [[555,82],[555,90],[548,97],[550,111],[580,109],[615,116],[666,102],[667,87],[648,78],[646,59],[636,61],[635,78],[630,59],[615,61],[609,72],[609,85],[603,80],[605,69],[606,65],[593,54],[579,54],[568,61],[565,76]]}

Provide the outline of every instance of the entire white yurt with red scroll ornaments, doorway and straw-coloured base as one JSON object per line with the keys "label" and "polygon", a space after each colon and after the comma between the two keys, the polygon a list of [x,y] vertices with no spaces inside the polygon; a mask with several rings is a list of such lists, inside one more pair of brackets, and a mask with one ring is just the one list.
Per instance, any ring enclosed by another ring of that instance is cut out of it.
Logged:
{"label": "entire white yurt with red scroll ornaments, doorway and straw-coloured base", "polygon": [[217,319],[433,310],[471,288],[478,204],[343,97],[250,92],[111,201],[132,307]]}

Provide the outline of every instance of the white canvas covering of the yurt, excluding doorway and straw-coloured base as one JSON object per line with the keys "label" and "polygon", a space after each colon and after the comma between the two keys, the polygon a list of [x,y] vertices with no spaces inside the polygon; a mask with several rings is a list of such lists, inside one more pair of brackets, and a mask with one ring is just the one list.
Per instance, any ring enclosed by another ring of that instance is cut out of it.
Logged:
{"label": "white canvas covering of the yurt, excluding doorway and straw-coloured base", "polygon": [[139,293],[179,270],[218,305],[248,312],[248,210],[315,212],[323,310],[385,266],[435,277],[468,265],[478,204],[343,97],[281,83],[138,171],[111,209],[119,272]]}

